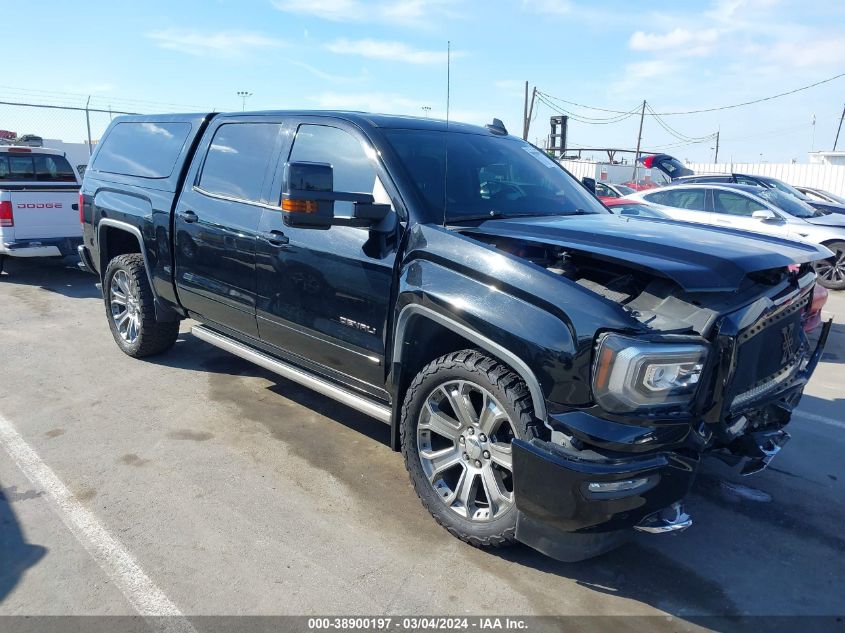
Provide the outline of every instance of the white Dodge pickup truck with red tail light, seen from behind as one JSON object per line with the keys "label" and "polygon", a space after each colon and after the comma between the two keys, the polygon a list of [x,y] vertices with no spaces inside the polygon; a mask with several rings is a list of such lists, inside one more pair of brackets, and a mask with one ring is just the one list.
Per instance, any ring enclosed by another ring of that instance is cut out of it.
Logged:
{"label": "white Dodge pickup truck with red tail light, seen from behind", "polygon": [[79,179],[64,154],[0,146],[0,272],[7,257],[75,255]]}

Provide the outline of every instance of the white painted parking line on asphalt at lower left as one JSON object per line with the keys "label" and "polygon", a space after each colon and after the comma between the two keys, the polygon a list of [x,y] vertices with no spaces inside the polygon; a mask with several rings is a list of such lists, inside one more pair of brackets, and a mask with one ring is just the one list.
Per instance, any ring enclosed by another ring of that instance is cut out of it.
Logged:
{"label": "white painted parking line on asphalt at lower left", "polygon": [[[120,588],[135,610],[156,630],[196,633],[191,623],[144,573],[135,557],[113,537],[45,464],[14,425],[0,415],[0,446],[33,486],[44,490],[64,524]],[[168,616],[168,617],[160,617]]]}

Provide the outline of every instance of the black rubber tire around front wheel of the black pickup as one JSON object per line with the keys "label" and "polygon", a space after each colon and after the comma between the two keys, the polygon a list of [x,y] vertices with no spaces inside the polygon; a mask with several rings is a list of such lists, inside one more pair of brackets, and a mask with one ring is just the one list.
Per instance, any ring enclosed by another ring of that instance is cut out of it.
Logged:
{"label": "black rubber tire around front wheel of the black pickup", "polygon": [[[456,513],[450,505],[447,505],[447,502],[441,497],[441,493],[435,490],[435,485],[429,481],[423,469],[418,433],[423,406],[442,385],[454,381],[465,381],[474,386],[482,387],[492,395],[497,401],[496,404],[500,405],[507,414],[509,418],[508,433],[512,430],[513,437],[530,439],[539,433],[541,424],[534,418],[531,396],[527,386],[519,376],[497,360],[478,351],[453,352],[441,356],[423,367],[411,382],[405,394],[400,420],[400,436],[405,466],[423,506],[452,535],[476,547],[509,545],[515,541],[514,533],[516,531],[517,511],[512,503],[500,516],[494,516],[490,520],[471,520]],[[483,435],[480,437],[483,437]],[[494,440],[492,437],[489,440],[490,442],[500,441]],[[467,443],[463,445],[464,450],[468,444],[469,441],[467,440]],[[458,451],[462,450],[458,444],[455,444],[454,448]],[[451,451],[452,449],[447,448],[446,450]],[[489,457],[489,453],[486,453],[486,456]],[[466,454],[463,457],[466,459]],[[464,468],[464,476],[466,476],[468,466],[457,464],[455,468],[458,466]],[[443,485],[442,481],[438,483]],[[460,483],[455,485],[455,495],[457,495],[457,488],[460,485]],[[486,487],[484,494],[486,494]],[[444,496],[446,495],[444,494]],[[492,503],[490,507],[493,507]],[[466,512],[469,514],[469,506],[467,506]]]}

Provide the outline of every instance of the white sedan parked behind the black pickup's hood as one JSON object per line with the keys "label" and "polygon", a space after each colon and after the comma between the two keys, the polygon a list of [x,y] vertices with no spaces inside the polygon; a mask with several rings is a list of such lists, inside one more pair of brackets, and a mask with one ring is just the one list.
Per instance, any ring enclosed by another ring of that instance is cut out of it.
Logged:
{"label": "white sedan parked behind the black pickup's hood", "polygon": [[817,265],[819,283],[833,290],[845,289],[843,215],[820,215],[808,204],[777,189],[750,185],[681,184],[627,197],[642,200],[673,220],[823,244],[834,256]]}

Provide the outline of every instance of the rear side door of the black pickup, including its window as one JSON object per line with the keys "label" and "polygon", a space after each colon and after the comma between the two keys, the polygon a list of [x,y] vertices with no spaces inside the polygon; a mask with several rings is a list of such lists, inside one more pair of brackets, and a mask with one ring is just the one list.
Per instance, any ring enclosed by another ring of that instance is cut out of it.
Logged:
{"label": "rear side door of the black pickup, including its window", "polygon": [[[282,125],[224,117],[206,132],[174,218],[176,289],[201,320],[258,336],[255,248]],[[202,153],[204,152],[204,155]]]}

